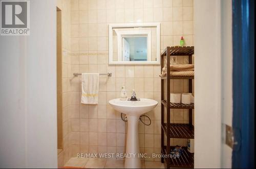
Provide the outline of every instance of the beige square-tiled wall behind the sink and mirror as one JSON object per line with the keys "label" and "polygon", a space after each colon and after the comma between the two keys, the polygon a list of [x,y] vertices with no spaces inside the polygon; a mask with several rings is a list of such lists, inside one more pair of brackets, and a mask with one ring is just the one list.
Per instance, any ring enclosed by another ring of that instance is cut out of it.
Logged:
{"label": "beige square-tiled wall behind the sink and mirror", "polygon": [[[158,106],[148,113],[151,126],[139,124],[141,152],[160,153],[160,66],[108,65],[108,24],[117,22],[161,22],[161,50],[165,46],[179,45],[183,36],[186,45],[193,45],[193,0],[71,0],[70,49],[71,62],[67,80],[72,73],[106,73],[112,77],[100,78],[99,104],[80,104],[81,79],[72,78],[69,83],[66,105],[70,131],[70,155],[76,153],[121,153],[125,151],[126,124],[120,113],[113,110],[108,101],[119,98],[121,86],[128,95],[135,89],[139,98],[154,99]],[[188,62],[186,57],[179,63]],[[67,65],[66,65],[67,64]],[[63,79],[66,80],[66,79]],[[64,84],[64,83],[63,83]],[[172,91],[188,90],[186,80],[171,82]],[[175,110],[174,122],[187,123],[187,111]],[[68,129],[67,129],[68,128]],[[186,140],[172,140],[184,145]],[[160,159],[146,159],[160,160]]]}

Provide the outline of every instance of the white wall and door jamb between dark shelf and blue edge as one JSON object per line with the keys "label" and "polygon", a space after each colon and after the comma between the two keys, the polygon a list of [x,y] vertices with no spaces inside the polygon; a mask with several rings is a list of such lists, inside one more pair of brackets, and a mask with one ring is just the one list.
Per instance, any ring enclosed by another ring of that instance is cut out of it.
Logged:
{"label": "white wall and door jamb between dark shelf and blue edge", "polygon": [[195,167],[231,167],[222,123],[232,123],[231,0],[195,0]]}

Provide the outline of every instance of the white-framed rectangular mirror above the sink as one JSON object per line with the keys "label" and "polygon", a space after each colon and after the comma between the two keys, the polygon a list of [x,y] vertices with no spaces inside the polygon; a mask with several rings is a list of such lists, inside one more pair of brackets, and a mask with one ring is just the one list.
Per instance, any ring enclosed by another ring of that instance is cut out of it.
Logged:
{"label": "white-framed rectangular mirror above the sink", "polygon": [[109,25],[109,64],[160,64],[160,23]]}

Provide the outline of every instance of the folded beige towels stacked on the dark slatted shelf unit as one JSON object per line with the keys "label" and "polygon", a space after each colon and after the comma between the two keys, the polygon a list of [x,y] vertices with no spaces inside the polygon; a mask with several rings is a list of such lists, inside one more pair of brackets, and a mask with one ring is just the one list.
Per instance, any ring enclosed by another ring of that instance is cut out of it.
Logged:
{"label": "folded beige towels stacked on the dark slatted shelf unit", "polygon": [[[167,75],[167,67],[162,68],[160,77]],[[194,64],[170,65],[170,76],[194,76]]]}

